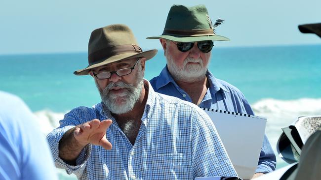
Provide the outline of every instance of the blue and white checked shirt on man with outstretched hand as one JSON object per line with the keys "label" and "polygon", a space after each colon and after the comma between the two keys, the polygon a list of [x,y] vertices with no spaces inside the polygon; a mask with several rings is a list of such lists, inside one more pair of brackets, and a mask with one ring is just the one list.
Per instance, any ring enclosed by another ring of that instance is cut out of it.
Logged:
{"label": "blue and white checked shirt on man with outstretched hand", "polygon": [[[147,81],[145,80],[145,83]],[[237,176],[209,117],[196,105],[159,94],[148,83],[148,99],[134,146],[103,103],[78,107],[48,134],[55,164],[80,180],[194,180],[206,176]],[[113,120],[107,129],[112,150],[87,145],[76,166],[58,156],[64,133],[84,122]]]}

